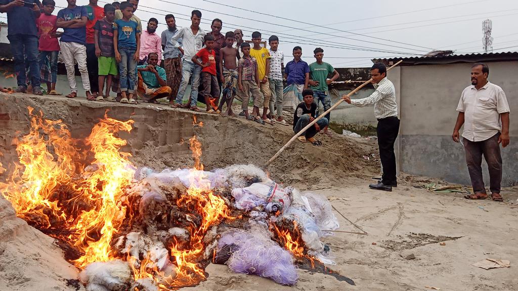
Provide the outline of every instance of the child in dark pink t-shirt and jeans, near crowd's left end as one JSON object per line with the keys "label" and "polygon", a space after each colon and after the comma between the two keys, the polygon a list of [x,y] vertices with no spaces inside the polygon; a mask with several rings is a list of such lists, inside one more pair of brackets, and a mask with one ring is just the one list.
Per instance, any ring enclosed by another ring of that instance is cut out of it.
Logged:
{"label": "child in dark pink t-shirt and jeans, near crowd's left end", "polygon": [[[56,4],[54,0],[43,0],[42,4],[43,13],[36,20],[39,33],[39,65],[41,68],[47,66],[47,59],[50,59],[51,82],[47,82],[47,94],[61,95],[56,92],[57,54],[60,52],[60,43],[57,38],[61,36],[61,33],[56,32],[57,16],[52,15]],[[45,79],[47,78],[41,80]]]}

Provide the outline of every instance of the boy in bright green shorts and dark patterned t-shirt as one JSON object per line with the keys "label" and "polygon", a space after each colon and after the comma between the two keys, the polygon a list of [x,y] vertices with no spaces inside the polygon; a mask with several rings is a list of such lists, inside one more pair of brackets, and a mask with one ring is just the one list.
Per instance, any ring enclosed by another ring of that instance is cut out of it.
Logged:
{"label": "boy in bright green shorts and dark patterned t-shirt", "polygon": [[[98,101],[115,102],[110,96],[111,78],[117,76],[117,62],[113,51],[113,20],[115,19],[115,7],[111,4],[104,6],[105,17],[97,20],[94,25],[95,55],[99,64],[99,96]],[[106,95],[103,97],[104,81],[106,80]]]}

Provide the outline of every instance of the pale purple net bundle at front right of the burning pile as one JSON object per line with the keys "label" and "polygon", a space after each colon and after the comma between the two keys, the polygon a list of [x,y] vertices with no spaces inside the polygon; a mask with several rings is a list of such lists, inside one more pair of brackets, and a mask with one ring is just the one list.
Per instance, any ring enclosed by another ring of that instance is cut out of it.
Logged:
{"label": "pale purple net bundle at front right of the burning pile", "polygon": [[266,230],[233,229],[224,232],[218,242],[217,254],[228,254],[228,246],[232,246],[232,254],[227,261],[232,271],[269,278],[282,285],[294,285],[298,273],[293,257],[263,232]]}

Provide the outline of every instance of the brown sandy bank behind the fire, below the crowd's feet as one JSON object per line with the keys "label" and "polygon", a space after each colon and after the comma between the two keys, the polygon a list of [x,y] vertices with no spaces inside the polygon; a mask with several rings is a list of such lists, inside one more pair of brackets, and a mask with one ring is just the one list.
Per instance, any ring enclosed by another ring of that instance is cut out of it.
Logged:
{"label": "brown sandy bank behind the fire, below the crowd's feet", "polygon": [[[207,169],[249,163],[261,167],[294,135],[291,126],[260,125],[207,113],[195,114],[203,126],[194,126],[192,111],[147,103],[129,106],[19,94],[1,94],[0,98],[0,150],[5,153],[0,162],[4,165],[16,158],[12,138],[28,132],[28,106],[35,112],[41,110],[47,119],[63,120],[75,138],[88,136],[106,110],[111,118],[133,119],[132,132],[120,135],[128,141],[123,150],[133,154],[135,165],[156,170],[191,167],[188,141],[193,135],[202,143],[202,162]],[[338,134],[317,137],[323,146],[294,142],[268,167],[271,177],[286,184],[336,185],[344,177],[368,178],[379,171],[379,159],[371,156],[378,157],[376,142]]]}

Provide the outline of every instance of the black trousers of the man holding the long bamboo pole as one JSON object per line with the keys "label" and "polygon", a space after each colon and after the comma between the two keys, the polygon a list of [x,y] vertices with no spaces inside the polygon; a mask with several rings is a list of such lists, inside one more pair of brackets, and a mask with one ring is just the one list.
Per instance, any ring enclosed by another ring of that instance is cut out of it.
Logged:
{"label": "black trousers of the man holding the long bamboo pole", "polygon": [[399,119],[395,116],[378,119],[378,146],[380,148],[381,166],[383,175],[381,181],[390,185],[396,181],[396,155],[394,143],[399,133]]}

